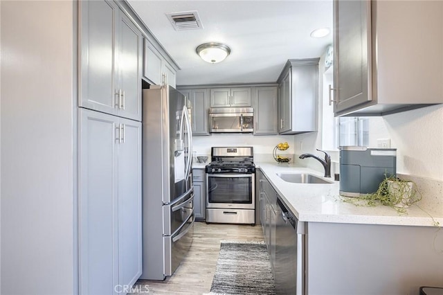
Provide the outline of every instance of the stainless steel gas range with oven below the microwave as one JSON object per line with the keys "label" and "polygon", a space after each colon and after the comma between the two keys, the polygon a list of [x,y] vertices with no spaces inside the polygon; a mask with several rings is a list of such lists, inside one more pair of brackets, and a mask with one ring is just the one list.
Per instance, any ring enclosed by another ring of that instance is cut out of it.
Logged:
{"label": "stainless steel gas range with oven below the microwave", "polygon": [[207,223],[255,224],[253,147],[212,147],[206,184]]}

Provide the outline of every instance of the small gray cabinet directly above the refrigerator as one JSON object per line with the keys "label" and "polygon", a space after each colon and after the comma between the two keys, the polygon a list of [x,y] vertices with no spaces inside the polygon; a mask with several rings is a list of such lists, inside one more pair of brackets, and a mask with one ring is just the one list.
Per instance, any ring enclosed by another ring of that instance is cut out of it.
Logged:
{"label": "small gray cabinet directly above the refrigerator", "polygon": [[176,87],[175,69],[166,62],[161,53],[156,50],[154,45],[145,39],[145,52],[143,59],[143,78],[152,84],[168,84]]}

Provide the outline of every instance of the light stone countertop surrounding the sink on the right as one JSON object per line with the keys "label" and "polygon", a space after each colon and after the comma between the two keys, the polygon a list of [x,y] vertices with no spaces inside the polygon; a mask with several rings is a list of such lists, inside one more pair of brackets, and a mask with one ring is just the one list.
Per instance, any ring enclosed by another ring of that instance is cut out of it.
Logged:
{"label": "light stone countertop surrounding the sink on the right", "polygon": [[[339,181],[334,184],[293,184],[280,179],[278,172],[308,172],[323,177],[323,174],[309,168],[291,164],[255,162],[271,185],[300,221],[333,222],[349,224],[385,224],[404,226],[433,226],[433,220],[443,226],[443,212],[422,211],[414,204],[401,215],[389,206],[355,206],[342,202],[339,195]],[[333,181],[334,178],[327,178]],[[419,202],[418,202],[419,204]]]}

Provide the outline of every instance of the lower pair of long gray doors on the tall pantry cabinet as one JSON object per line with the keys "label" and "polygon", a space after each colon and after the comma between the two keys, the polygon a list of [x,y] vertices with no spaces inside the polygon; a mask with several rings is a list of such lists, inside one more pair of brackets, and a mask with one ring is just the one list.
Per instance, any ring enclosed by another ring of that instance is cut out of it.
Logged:
{"label": "lower pair of long gray doors on the tall pantry cabinet", "polygon": [[81,294],[121,294],[142,272],[141,123],[80,108]]}

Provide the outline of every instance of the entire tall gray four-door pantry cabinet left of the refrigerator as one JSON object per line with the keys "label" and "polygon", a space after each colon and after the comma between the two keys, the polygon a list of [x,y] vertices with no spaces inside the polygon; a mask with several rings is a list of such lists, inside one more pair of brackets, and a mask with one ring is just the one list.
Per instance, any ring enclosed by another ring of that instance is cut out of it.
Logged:
{"label": "entire tall gray four-door pantry cabinet left of the refrigerator", "polygon": [[79,290],[142,272],[141,32],[114,1],[79,1]]}

